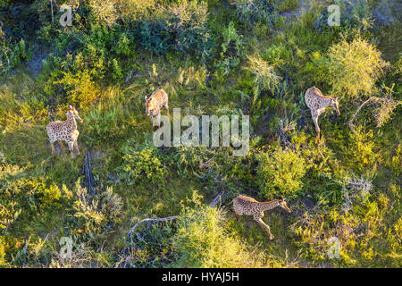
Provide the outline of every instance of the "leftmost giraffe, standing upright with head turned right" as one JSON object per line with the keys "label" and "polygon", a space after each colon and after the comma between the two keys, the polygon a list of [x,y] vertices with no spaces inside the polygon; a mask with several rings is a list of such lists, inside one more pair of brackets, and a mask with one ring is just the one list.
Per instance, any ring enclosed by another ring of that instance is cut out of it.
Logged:
{"label": "leftmost giraffe, standing upright with head turned right", "polygon": [[47,135],[49,137],[50,145],[52,147],[52,154],[54,155],[54,142],[59,141],[60,146],[65,150],[63,145],[63,141],[66,141],[69,150],[73,151],[73,147],[75,146],[78,154],[80,155],[80,149],[78,147],[77,139],[80,135],[79,130],[77,130],[77,122],[75,120],[79,120],[83,122],[80,118],[75,107],[69,106],[69,111],[67,112],[67,120],[64,122],[50,122],[46,126]]}

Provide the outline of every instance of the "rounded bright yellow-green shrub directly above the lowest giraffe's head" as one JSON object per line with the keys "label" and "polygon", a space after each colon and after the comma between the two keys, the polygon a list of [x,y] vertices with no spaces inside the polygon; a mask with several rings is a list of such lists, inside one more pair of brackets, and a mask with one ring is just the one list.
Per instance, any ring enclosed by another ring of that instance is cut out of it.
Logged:
{"label": "rounded bright yellow-green shrub directly above the lowest giraffe's head", "polygon": [[260,153],[257,160],[260,194],[264,198],[297,196],[307,167],[303,157],[296,151],[277,149],[272,153]]}

